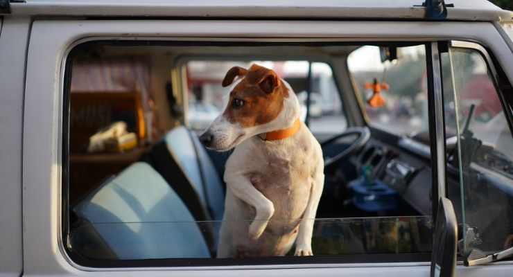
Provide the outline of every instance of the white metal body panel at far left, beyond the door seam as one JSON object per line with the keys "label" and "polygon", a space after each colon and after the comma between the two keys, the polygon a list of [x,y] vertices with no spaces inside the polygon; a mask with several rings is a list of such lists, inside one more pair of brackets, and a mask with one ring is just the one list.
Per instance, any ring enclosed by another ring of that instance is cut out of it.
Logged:
{"label": "white metal body panel at far left, beyond the door seam", "polygon": [[0,28],[0,276],[19,276],[21,135],[30,20],[6,18]]}

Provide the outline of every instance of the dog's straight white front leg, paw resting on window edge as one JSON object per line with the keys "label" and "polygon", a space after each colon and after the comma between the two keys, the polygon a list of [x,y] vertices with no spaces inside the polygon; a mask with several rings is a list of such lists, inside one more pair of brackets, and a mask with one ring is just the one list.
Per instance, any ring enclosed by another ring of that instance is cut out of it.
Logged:
{"label": "dog's straight white front leg, paw resting on window edge", "polygon": [[312,256],[312,232],[313,223],[315,222],[315,213],[319,205],[324,187],[324,174],[318,174],[312,181],[312,188],[306,210],[304,211],[299,231],[297,232],[296,249],[294,256]]}

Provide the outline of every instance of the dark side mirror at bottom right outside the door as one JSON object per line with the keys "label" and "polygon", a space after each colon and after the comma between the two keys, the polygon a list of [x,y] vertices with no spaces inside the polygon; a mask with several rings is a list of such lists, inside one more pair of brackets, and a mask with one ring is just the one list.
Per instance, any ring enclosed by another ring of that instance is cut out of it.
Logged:
{"label": "dark side mirror at bottom right outside the door", "polygon": [[431,256],[431,277],[455,276],[458,222],[451,200],[441,197],[435,224],[435,242]]}

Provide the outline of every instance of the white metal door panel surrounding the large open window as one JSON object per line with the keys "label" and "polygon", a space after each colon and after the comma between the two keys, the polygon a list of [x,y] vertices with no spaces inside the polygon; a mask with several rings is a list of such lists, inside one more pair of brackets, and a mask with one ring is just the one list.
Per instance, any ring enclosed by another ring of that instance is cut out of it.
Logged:
{"label": "white metal door panel surrounding the large open window", "polygon": [[[60,128],[62,62],[78,39],[187,40],[419,40],[475,39],[499,57],[510,78],[513,56],[492,24],[392,21],[35,21],[28,50],[24,112],[24,275],[104,276],[79,270],[60,242]],[[264,39],[262,39],[264,38]],[[238,270],[235,270],[238,269]],[[265,271],[261,269],[266,269]],[[486,269],[486,270],[485,270]],[[105,270],[105,269],[103,269]],[[428,276],[428,263],[358,265],[268,265],[178,269],[112,269],[110,276]],[[461,268],[459,273],[510,276],[512,265]]]}

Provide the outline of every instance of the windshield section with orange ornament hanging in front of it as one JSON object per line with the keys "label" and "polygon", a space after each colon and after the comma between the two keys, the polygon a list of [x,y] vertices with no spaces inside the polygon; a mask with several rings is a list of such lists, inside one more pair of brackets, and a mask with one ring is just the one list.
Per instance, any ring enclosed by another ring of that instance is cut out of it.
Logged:
{"label": "windshield section with orange ornament hanging in front of it", "polygon": [[349,55],[349,71],[370,125],[398,135],[428,129],[425,56],[422,45],[363,46]]}

